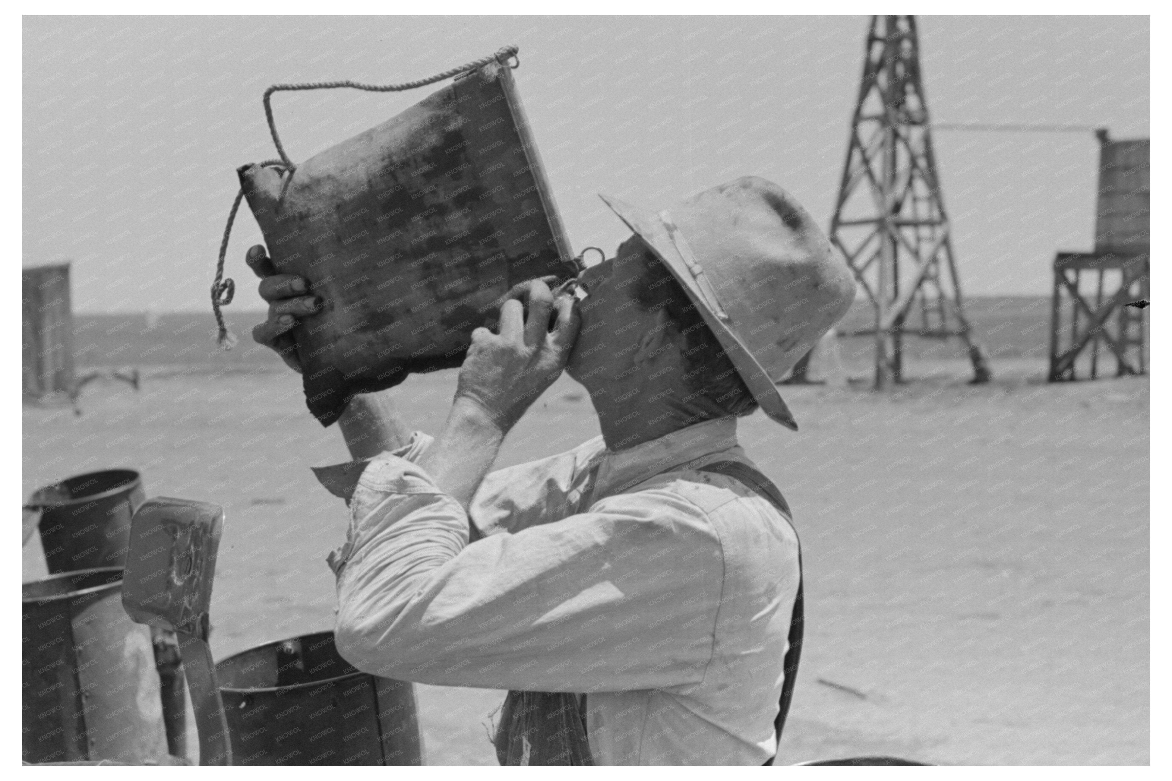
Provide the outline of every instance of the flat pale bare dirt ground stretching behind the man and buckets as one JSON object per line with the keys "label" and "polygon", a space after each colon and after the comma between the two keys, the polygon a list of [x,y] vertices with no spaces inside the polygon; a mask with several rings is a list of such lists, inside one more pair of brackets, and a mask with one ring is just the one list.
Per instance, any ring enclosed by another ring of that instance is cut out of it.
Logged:
{"label": "flat pale bare dirt ground stretching behind the man and buckets", "polygon": [[[742,421],[804,550],[806,641],[785,762],[1147,762],[1147,380],[1047,385],[1043,360],[995,360],[982,386],[966,383],[963,361],[912,361],[914,381],[883,393],[790,388],[798,434],[759,414]],[[436,432],[454,387],[455,372],[413,376],[401,407]],[[150,496],[222,504],[217,658],[332,627],[325,556],[347,518],[308,467],[346,450],[305,410],[297,375],[271,361],[157,366],[138,392],[88,386],[81,407],[25,407],[26,495],[131,467]],[[500,463],[597,432],[590,400],[564,378]],[[23,577],[43,573],[34,537]],[[496,763],[485,725],[502,692],[417,692],[429,765]]]}

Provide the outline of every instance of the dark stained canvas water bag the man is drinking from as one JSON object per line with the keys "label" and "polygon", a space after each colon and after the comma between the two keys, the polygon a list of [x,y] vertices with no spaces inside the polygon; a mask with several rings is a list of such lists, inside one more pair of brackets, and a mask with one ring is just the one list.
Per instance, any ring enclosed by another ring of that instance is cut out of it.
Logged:
{"label": "dark stained canvas water bag the man is drinking from", "polygon": [[459,366],[512,285],[577,273],[500,59],[292,169],[239,177],[277,270],[321,299],[292,333],[323,426],[355,393]]}

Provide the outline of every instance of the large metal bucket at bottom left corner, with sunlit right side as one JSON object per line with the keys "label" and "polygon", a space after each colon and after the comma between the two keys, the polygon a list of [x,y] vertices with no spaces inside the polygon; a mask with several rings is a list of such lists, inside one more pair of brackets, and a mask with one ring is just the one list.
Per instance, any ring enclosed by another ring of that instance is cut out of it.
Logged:
{"label": "large metal bucket at bottom left corner, with sunlit right side", "polygon": [[150,631],[122,609],[122,568],[23,584],[23,759],[168,755]]}

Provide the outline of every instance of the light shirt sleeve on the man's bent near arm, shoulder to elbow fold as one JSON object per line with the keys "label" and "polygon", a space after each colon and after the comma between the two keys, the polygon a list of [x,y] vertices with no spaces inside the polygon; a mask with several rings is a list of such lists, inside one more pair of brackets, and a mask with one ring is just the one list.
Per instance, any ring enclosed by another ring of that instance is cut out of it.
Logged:
{"label": "light shirt sleeve on the man's bent near arm, shoulder to elbow fold", "polygon": [[550,692],[703,679],[723,557],[704,512],[668,483],[468,544],[459,503],[383,454],[350,511],[336,639],[360,670]]}

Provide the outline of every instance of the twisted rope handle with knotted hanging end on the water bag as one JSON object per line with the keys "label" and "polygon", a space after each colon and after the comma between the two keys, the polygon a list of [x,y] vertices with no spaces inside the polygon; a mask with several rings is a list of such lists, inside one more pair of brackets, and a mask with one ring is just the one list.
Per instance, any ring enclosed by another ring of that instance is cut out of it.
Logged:
{"label": "twisted rope handle with knotted hanging end on the water bag", "polygon": [[[472,60],[466,64],[459,66],[458,68],[451,68],[428,79],[408,81],[401,84],[362,84],[356,81],[320,81],[302,84],[273,84],[265,90],[264,95],[265,118],[268,121],[268,131],[273,136],[273,145],[277,147],[277,154],[280,155],[280,159],[265,161],[260,165],[265,168],[280,169],[282,175],[292,175],[293,171],[297,170],[297,165],[285,152],[285,147],[281,144],[281,137],[277,133],[277,122],[273,118],[272,106],[273,93],[305,89],[338,89],[341,87],[364,89],[370,93],[401,93],[409,89],[416,89],[418,87],[427,87],[428,84],[434,84],[437,81],[444,81],[445,79],[451,79],[452,76],[458,76],[470,70],[476,70],[477,68],[483,68],[493,61],[503,63],[512,59],[515,60],[515,63],[510,67],[517,68],[520,64],[520,60],[517,57],[517,52],[518,48],[516,46],[506,46],[498,49],[496,54],[490,54],[489,56],[481,57],[479,60]],[[232,279],[224,279],[224,258],[227,254],[229,236],[232,233],[232,223],[236,220],[236,212],[240,209],[241,199],[244,199],[243,189],[237,192],[236,201],[232,202],[232,209],[227,215],[227,224],[224,226],[224,239],[220,242],[219,260],[216,264],[216,280],[212,283],[212,312],[216,315],[216,325],[218,327],[216,341],[224,349],[232,349],[237,342],[236,335],[227,330],[227,325],[224,322],[224,313],[220,311],[220,307],[231,304],[232,298],[236,296],[236,283]]]}

